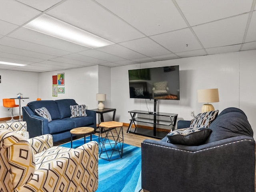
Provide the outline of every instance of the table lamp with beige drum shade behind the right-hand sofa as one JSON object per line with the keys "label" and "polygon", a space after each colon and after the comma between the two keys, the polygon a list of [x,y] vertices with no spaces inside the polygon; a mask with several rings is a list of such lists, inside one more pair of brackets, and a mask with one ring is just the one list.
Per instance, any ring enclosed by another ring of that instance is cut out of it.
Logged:
{"label": "table lamp with beige drum shade behind the right-hand sofa", "polygon": [[197,90],[197,102],[207,103],[202,106],[202,113],[208,111],[214,111],[212,104],[214,102],[219,102],[219,92],[218,89],[200,89]]}

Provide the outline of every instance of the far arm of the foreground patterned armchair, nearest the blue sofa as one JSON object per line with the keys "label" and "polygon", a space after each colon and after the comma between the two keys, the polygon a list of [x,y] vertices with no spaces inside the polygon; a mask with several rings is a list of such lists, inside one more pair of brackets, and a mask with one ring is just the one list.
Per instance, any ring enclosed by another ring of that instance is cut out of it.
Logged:
{"label": "far arm of the foreground patterned armchair, nearest the blue sofa", "polygon": [[53,139],[52,139],[52,135],[50,134],[30,138],[28,142],[32,147],[34,154],[42,152],[53,146]]}

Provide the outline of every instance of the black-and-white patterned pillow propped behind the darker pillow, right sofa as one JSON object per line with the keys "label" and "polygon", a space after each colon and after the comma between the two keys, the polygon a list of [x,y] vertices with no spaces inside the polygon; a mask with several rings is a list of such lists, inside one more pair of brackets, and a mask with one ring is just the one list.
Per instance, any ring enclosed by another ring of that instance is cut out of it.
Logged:
{"label": "black-and-white patterned pillow propped behind the darker pillow, right sofa", "polygon": [[211,122],[218,116],[219,110],[198,114],[190,124],[190,127],[209,127]]}

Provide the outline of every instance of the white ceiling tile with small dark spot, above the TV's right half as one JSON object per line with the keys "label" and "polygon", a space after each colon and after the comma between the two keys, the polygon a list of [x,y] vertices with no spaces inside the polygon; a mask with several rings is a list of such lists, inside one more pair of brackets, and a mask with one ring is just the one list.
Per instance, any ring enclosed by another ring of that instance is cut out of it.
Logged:
{"label": "white ceiling tile with small dark spot, above the TV's right half", "polygon": [[[150,38],[174,53],[202,48],[189,28],[151,36]],[[186,46],[187,44],[188,46]]]}

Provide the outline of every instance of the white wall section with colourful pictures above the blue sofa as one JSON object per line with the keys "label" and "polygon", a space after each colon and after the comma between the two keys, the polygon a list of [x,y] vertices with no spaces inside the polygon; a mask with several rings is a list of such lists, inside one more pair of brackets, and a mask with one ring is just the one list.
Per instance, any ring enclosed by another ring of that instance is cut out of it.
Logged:
{"label": "white wall section with colourful pictures above the blue sofa", "polygon": [[[52,96],[52,76],[64,73],[65,94]],[[85,104],[88,109],[97,108],[98,66],[88,66],[68,70],[40,73],[39,91],[42,100],[74,99],[78,104]]]}

